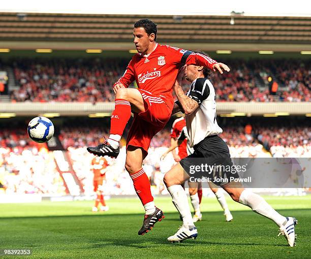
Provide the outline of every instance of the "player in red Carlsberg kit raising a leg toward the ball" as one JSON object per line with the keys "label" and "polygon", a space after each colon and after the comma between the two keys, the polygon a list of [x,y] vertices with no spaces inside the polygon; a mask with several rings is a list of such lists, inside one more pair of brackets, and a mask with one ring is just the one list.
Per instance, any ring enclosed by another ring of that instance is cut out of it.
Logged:
{"label": "player in red Carlsberg kit raising a leg toward the ball", "polygon": [[[162,210],[154,206],[142,162],[151,138],[164,128],[171,116],[174,104],[172,90],[178,68],[183,64],[198,64],[221,73],[222,69],[230,69],[204,55],[156,43],[157,24],[148,19],[134,24],[133,36],[138,54],[133,56],[123,76],[113,85],[116,96],[109,138],[103,144],[87,147],[87,151],[98,156],[117,157],[119,140],[133,112],[125,166],[145,208],[143,226],[138,232],[143,235],[164,218]],[[128,88],[134,80],[138,89]]]}

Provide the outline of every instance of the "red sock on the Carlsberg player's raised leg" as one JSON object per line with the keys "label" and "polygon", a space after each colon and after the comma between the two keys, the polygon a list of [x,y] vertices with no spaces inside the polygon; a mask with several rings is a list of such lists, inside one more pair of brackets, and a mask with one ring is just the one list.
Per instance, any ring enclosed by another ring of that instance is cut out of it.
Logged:
{"label": "red sock on the Carlsberg player's raised leg", "polygon": [[131,104],[125,99],[115,99],[114,111],[111,115],[110,134],[122,136],[131,118]]}

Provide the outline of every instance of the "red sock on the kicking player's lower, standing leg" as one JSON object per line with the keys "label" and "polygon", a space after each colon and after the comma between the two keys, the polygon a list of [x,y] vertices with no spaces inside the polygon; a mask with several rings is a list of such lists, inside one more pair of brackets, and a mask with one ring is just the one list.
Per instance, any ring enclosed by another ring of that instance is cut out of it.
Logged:
{"label": "red sock on the kicking player's lower, standing leg", "polygon": [[133,179],[134,188],[141,203],[145,205],[146,203],[153,201],[150,190],[150,181],[144,169],[141,168],[139,171],[130,174],[130,176]]}

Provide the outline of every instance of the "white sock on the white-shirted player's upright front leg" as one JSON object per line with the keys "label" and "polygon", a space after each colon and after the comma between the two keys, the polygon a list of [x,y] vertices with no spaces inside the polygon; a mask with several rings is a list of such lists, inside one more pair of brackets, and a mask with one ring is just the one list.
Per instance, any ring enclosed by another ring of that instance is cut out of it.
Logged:
{"label": "white sock on the white-shirted player's upright front leg", "polygon": [[172,196],[173,204],[175,205],[176,209],[179,211],[182,217],[183,226],[194,226],[188,199],[181,185],[175,184],[167,188],[167,190]]}

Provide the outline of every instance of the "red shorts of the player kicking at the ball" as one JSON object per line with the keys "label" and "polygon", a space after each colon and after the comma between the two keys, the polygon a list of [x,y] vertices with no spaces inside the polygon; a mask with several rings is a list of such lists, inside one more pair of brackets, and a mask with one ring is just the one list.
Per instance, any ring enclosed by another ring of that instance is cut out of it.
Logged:
{"label": "red shorts of the player kicking at the ball", "polygon": [[129,145],[138,146],[148,153],[152,137],[164,128],[171,117],[172,110],[164,102],[162,96],[138,90],[144,99],[145,112],[134,114],[127,139],[127,148]]}

